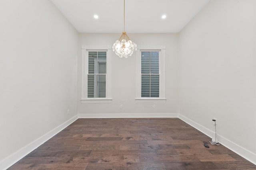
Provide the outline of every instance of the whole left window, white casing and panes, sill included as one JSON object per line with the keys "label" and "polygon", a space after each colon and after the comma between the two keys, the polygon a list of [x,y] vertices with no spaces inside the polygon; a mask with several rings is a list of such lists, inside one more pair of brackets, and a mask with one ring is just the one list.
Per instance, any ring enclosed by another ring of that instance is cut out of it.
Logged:
{"label": "whole left window, white casing and panes, sill included", "polygon": [[110,45],[82,45],[82,103],[111,102],[110,50]]}

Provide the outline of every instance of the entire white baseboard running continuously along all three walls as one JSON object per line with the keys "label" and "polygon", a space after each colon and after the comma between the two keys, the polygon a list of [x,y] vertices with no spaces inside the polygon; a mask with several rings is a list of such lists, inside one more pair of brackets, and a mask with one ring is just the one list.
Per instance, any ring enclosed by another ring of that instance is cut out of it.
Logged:
{"label": "entire white baseboard running continuously along all three walls", "polygon": [[[18,150],[17,152],[13,153],[12,155],[8,156],[4,160],[0,162],[0,169],[5,170],[15,164],[18,160],[32,152],[34,149],[38,148],[40,145],[48,141],[50,138],[52,138],[54,135],[62,131],[64,128],[66,128],[68,125],[76,121],[78,118],[160,118],[160,117],[170,117],[170,118],[179,118],[182,121],[188,123],[192,127],[198,129],[208,137],[212,138],[213,131],[210,131],[206,127],[203,127],[202,125],[188,119],[187,117],[184,117],[183,115],[180,115],[178,113],[102,113],[102,114],[78,114],[65,123],[62,123],[60,126],[56,127],[52,131],[46,133],[42,137],[36,139],[34,142],[28,144],[26,147]],[[220,136],[217,134],[218,142],[223,145],[224,147],[232,150],[236,154],[239,154],[246,160],[252,162],[256,165],[256,154],[250,152],[249,150],[244,149],[243,147],[240,147],[239,145],[233,143],[232,141],[229,141],[228,139]]]}

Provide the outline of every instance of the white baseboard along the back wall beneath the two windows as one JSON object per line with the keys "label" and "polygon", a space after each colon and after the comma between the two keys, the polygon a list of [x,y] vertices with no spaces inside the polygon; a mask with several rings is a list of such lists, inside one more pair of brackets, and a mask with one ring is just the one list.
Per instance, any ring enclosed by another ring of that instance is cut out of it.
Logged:
{"label": "white baseboard along the back wall beneath the two windows", "polygon": [[160,118],[178,117],[178,113],[93,113],[79,114],[78,118]]}

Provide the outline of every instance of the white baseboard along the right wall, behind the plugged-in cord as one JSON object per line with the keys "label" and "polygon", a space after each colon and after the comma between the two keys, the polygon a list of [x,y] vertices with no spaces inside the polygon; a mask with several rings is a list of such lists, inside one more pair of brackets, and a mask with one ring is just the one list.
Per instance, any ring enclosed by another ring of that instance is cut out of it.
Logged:
{"label": "white baseboard along the right wall, behind the plugged-in cord", "polygon": [[[209,129],[207,129],[206,127],[203,127],[201,125],[199,125],[198,123],[188,119],[187,117],[183,116],[183,115],[178,115],[178,117],[188,123],[189,125],[191,125],[192,127],[196,128],[198,131],[201,131],[202,133],[204,133],[205,135],[207,135],[208,137],[212,138],[212,134],[215,133],[213,131],[210,131]],[[242,156],[243,158],[245,158],[246,160],[252,162],[253,164],[256,165],[256,154],[250,152],[249,150],[244,149],[243,147],[237,145],[236,143],[233,143],[232,141],[229,141],[228,139],[222,137],[221,135],[217,134],[217,140],[218,143],[220,143],[221,145],[223,145],[224,147],[232,150],[233,152],[235,152],[236,154]],[[253,145],[253,144],[252,144]],[[255,145],[253,145],[255,146]]]}

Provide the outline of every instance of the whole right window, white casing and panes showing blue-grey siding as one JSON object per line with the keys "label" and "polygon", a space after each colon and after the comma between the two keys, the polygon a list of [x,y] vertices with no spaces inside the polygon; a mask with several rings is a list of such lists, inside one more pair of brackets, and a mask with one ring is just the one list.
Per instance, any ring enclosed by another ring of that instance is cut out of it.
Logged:
{"label": "whole right window, white casing and panes showing blue-grey siding", "polygon": [[165,46],[139,46],[136,55],[136,102],[164,101]]}

